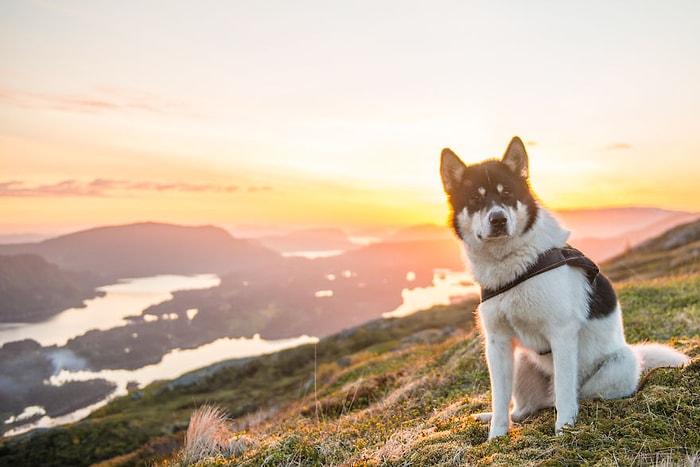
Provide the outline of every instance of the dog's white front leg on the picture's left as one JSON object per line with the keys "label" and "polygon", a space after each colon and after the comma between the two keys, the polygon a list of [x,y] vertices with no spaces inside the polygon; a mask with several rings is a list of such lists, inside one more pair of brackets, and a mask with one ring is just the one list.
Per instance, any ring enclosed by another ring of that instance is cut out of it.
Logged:
{"label": "dog's white front leg on the picture's left", "polygon": [[486,339],[486,361],[491,378],[491,428],[489,439],[503,436],[510,427],[510,399],[513,391],[513,339],[490,335]]}

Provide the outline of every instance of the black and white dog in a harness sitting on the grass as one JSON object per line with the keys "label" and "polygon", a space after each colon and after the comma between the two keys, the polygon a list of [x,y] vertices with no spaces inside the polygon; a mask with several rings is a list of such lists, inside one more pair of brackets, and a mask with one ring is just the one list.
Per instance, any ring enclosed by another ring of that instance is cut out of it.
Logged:
{"label": "black and white dog in a harness sitting on the grass", "polygon": [[[572,426],[578,400],[635,392],[643,372],[690,358],[657,343],[628,345],[610,281],[542,206],[517,136],[503,158],[467,165],[442,151],[451,224],[482,298],[477,310],[491,381],[489,439],[545,408],[555,432]],[[513,402],[511,410],[511,401]]]}

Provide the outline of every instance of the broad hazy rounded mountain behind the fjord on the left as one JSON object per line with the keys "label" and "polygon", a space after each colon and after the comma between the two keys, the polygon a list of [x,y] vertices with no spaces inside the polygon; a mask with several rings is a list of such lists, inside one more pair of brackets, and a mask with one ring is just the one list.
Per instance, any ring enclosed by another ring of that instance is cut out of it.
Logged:
{"label": "broad hazy rounded mountain behind the fjord on the left", "polygon": [[0,254],[40,255],[60,268],[108,282],[157,274],[227,273],[263,267],[275,252],[213,226],[160,223],[98,227],[38,243],[0,245]]}

